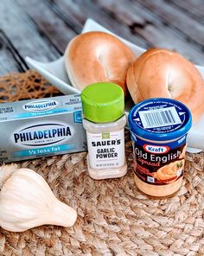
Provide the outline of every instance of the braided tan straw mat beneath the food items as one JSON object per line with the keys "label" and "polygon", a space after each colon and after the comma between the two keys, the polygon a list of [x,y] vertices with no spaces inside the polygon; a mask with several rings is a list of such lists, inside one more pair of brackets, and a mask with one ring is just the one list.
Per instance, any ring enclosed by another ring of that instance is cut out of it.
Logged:
{"label": "braided tan straw mat beneath the food items", "polygon": [[[0,86],[1,101],[59,94],[34,71],[4,76]],[[125,137],[128,173],[119,179],[92,180],[86,152],[18,163],[43,176],[78,219],[70,228],[48,225],[23,233],[0,227],[0,255],[204,255],[204,153],[187,154],[175,196],[153,200],[137,190],[128,131]]]}

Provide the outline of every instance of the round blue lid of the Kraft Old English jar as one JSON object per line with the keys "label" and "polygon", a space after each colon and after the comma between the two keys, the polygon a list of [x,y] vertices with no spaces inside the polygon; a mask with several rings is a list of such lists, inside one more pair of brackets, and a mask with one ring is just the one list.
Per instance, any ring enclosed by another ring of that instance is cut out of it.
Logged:
{"label": "round blue lid of the Kraft Old English jar", "polygon": [[175,99],[146,99],[133,106],[128,116],[135,135],[156,141],[172,140],[185,135],[192,125],[188,107]]}

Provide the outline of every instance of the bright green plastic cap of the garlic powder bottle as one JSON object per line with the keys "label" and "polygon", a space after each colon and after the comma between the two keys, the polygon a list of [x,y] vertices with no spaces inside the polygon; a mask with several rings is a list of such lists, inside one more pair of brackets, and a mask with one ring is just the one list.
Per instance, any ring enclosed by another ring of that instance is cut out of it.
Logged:
{"label": "bright green plastic cap of the garlic powder bottle", "polygon": [[114,122],[124,114],[124,90],[113,83],[95,83],[81,93],[84,118],[94,123]]}

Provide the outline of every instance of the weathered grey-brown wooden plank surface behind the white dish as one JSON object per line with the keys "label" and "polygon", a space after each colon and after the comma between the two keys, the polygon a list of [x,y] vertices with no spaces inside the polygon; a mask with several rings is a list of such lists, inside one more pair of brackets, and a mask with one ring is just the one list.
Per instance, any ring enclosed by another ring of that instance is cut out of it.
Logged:
{"label": "weathered grey-brown wooden plank surface behind the white dish", "polygon": [[204,66],[202,0],[0,0],[0,74],[54,61],[88,17],[143,48],[169,48]]}

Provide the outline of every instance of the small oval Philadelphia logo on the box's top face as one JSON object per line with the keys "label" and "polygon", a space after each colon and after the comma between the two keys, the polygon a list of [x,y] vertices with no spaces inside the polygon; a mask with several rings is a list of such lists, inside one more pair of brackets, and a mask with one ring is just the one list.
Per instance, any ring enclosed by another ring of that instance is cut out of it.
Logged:
{"label": "small oval Philadelphia logo on the box's top face", "polygon": [[58,105],[53,99],[35,100],[23,105],[23,109],[30,112],[48,111]]}

